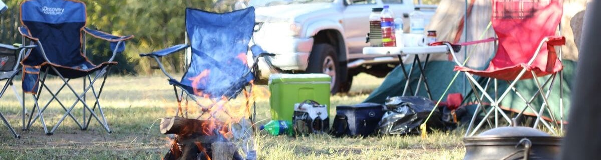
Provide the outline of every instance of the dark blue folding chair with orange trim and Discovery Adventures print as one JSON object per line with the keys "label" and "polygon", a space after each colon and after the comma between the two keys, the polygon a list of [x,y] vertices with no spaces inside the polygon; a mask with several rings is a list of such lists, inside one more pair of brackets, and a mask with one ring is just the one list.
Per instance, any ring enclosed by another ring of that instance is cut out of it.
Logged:
{"label": "dark blue folding chair with orange trim and Discovery Adventures print", "polygon": [[[25,55],[22,61],[22,88],[25,93],[32,94],[35,103],[29,114],[26,129],[29,129],[32,123],[40,118],[44,131],[50,135],[69,116],[81,130],[86,130],[91,118],[94,118],[108,133],[111,133],[99,97],[105,85],[107,72],[109,72],[111,66],[117,64],[113,61],[115,56],[125,49],[125,41],[133,38],[133,36],[114,36],[85,27],[87,14],[83,2],[73,0],[30,0],[23,2],[20,7],[20,20],[23,27],[19,27],[19,33],[24,37],[23,39],[28,39],[32,44],[37,45]],[[84,32],[95,38],[110,42],[112,57],[108,61],[93,64],[87,59]],[[44,73],[41,79],[40,73]],[[51,91],[44,84],[47,75],[58,76],[64,84],[58,90]],[[84,88],[82,93],[77,93],[69,85],[70,79],[74,78],[83,78]],[[94,82],[100,78],[102,78],[102,85],[100,85],[100,88],[94,88]],[[88,85],[86,85],[87,83]],[[64,87],[69,88],[77,99],[69,107],[64,106],[56,97]],[[44,88],[52,98],[40,108],[38,100]],[[88,105],[85,100],[86,93],[90,90],[94,98],[93,106]],[[63,107],[66,113],[56,122],[52,130],[48,131],[42,113],[54,100]],[[79,123],[77,118],[71,114],[73,108],[80,102],[84,106],[84,109],[82,109],[82,123]],[[96,107],[100,111],[102,121],[96,113]],[[37,115],[32,118],[36,110]],[[90,112],[89,117],[87,117],[86,112]]]}

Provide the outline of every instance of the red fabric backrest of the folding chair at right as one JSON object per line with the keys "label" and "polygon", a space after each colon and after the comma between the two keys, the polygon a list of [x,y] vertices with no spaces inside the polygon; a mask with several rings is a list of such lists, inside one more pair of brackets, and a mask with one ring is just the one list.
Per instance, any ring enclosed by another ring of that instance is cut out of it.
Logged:
{"label": "red fabric backrest of the folding chair at right", "polygon": [[[528,63],[546,36],[554,36],[563,14],[563,0],[492,0],[492,26],[499,47],[491,66],[498,69]],[[532,64],[545,69],[547,46]]]}

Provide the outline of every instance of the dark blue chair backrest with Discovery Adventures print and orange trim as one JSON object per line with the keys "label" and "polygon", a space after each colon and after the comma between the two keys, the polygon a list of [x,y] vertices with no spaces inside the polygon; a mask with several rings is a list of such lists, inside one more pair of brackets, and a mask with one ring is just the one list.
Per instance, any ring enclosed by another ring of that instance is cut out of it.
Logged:
{"label": "dark blue chair backrest with Discovery Adventures print and orange trim", "polygon": [[[86,23],[85,4],[75,0],[28,0],[20,6],[21,24],[38,38],[48,60],[73,67],[87,60],[82,54],[82,29]],[[26,66],[44,63],[40,47],[25,57]]]}

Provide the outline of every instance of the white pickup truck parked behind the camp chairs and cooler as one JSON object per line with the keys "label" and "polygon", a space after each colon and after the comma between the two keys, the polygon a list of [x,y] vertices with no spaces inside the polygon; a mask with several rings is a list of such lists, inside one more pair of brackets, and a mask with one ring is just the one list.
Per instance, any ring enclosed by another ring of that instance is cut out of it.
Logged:
{"label": "white pickup truck parked behind the camp chairs and cooler", "polygon": [[[386,76],[398,60],[363,55],[368,47],[368,16],[372,8],[389,5],[396,17],[409,23],[413,0],[251,0],[257,26],[254,42],[276,56],[261,60],[260,79],[271,73],[325,73],[332,93],[350,89],[353,76],[365,72]],[[419,6],[432,16],[435,6]],[[407,31],[409,25],[404,25]],[[272,67],[269,67],[272,66]]]}

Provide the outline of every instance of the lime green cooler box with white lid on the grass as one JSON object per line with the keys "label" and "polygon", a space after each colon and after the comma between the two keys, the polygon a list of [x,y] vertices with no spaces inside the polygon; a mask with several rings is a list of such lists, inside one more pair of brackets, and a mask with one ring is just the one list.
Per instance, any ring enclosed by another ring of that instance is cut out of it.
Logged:
{"label": "lime green cooler box with white lid on the grass", "polygon": [[307,99],[326,104],[329,112],[330,81],[330,76],[317,73],[269,76],[271,119],[292,121],[294,104]]}

